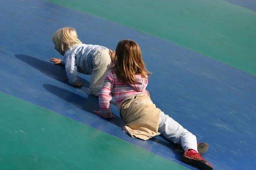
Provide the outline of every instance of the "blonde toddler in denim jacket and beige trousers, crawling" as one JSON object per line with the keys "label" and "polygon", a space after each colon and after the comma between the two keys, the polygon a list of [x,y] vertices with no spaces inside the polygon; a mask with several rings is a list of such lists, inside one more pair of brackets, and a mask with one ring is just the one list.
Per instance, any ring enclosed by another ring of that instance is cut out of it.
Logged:
{"label": "blonde toddler in denim jacket and beige trousers, crawling", "polygon": [[99,96],[106,74],[113,66],[108,48],[83,44],[78,39],[76,30],[71,27],[55,31],[52,42],[55,50],[64,57],[63,60],[51,58],[50,61],[65,66],[69,84],[76,87],[82,85],[77,78],[77,72],[91,75],[90,93]]}

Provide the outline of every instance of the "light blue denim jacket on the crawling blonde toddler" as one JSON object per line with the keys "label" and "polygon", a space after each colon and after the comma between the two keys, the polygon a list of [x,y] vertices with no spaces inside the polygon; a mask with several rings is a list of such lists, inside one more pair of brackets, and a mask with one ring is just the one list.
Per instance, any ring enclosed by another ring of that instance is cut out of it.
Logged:
{"label": "light blue denim jacket on the crawling blonde toddler", "polygon": [[100,49],[108,49],[100,45],[79,44],[65,51],[62,64],[65,66],[68,82],[77,85],[77,72],[90,75],[93,71],[93,58]]}

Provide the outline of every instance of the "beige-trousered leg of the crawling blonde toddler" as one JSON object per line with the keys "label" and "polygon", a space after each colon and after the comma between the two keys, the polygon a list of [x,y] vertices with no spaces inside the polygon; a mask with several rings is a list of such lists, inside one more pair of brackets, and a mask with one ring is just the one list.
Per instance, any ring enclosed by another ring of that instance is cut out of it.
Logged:
{"label": "beige-trousered leg of the crawling blonde toddler", "polygon": [[107,49],[99,50],[93,60],[93,71],[90,79],[90,93],[99,96],[104,79],[108,74],[113,62]]}

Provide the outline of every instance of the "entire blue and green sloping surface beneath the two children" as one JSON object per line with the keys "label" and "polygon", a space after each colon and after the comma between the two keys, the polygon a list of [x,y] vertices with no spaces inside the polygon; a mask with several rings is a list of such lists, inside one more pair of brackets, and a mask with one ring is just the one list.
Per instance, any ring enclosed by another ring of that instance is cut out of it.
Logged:
{"label": "entire blue and green sloping surface beneath the two children", "polygon": [[210,147],[215,170],[256,167],[254,0],[1,0],[0,170],[196,170],[162,136],[134,139],[93,113],[98,99],[68,85],[52,34],[115,50],[136,41],[163,112]]}

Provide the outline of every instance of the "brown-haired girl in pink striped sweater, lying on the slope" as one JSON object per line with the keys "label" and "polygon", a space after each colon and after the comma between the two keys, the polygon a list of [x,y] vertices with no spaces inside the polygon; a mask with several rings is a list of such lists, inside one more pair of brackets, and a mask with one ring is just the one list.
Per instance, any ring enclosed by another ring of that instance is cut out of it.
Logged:
{"label": "brown-haired girl in pink striped sweater, lying on the slope", "polygon": [[106,119],[113,117],[110,110],[113,92],[125,122],[123,130],[131,137],[147,140],[161,133],[182,146],[185,163],[194,164],[200,170],[213,170],[212,165],[198,153],[195,135],[156,108],[151,101],[146,90],[151,73],[145,68],[139,45],[131,40],[122,40],[116,52],[110,51],[110,55],[115,57],[115,65],[108,72],[99,93],[100,111],[94,112]]}

